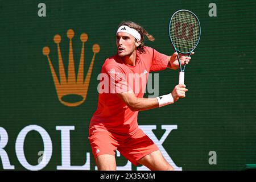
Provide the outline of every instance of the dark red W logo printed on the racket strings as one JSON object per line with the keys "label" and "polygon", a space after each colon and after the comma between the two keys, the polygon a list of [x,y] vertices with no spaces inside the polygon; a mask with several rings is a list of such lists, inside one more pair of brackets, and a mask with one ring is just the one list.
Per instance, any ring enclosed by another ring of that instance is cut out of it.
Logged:
{"label": "dark red W logo printed on the racket strings", "polygon": [[[184,40],[193,39],[193,28],[195,26],[193,24],[187,24],[187,23],[182,23],[181,27],[180,25],[181,23],[179,22],[175,23],[175,35],[177,36],[177,38],[184,39]],[[182,28],[181,31],[179,31],[180,28]],[[188,29],[188,34],[187,34],[187,29]],[[181,34],[179,32],[181,32]]]}

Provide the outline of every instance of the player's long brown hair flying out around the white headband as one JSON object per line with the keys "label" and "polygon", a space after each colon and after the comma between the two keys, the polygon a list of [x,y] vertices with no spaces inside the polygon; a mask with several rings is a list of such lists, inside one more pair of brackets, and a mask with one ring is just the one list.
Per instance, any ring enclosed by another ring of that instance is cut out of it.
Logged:
{"label": "player's long brown hair flying out around the white headband", "polygon": [[[147,39],[150,41],[154,41],[155,38],[152,35],[148,34],[148,32],[142,26],[140,26],[138,23],[125,21],[125,22],[120,23],[119,27],[122,25],[128,26],[130,28],[134,28],[135,30],[137,30],[139,32],[139,34],[141,34],[141,41],[140,41],[141,44],[137,47],[137,51],[139,53],[146,53],[146,51],[144,50],[144,44],[143,44],[144,35],[146,35]],[[135,39],[135,41],[138,41],[138,40]]]}

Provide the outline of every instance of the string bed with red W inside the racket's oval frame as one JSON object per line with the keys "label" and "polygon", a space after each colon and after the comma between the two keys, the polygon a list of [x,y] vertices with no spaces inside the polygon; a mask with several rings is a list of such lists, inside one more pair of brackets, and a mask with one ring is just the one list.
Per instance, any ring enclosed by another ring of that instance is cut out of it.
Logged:
{"label": "string bed with red W inside the racket's oval frame", "polygon": [[170,35],[178,51],[191,52],[199,41],[199,21],[192,13],[179,11],[172,17]]}

